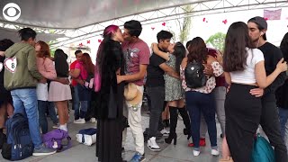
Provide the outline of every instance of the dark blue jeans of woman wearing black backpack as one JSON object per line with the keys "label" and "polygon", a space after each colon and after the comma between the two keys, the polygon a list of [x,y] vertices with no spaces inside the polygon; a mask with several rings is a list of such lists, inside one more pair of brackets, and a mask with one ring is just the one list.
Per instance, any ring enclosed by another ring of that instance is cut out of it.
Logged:
{"label": "dark blue jeans of woman wearing black backpack", "polygon": [[186,108],[190,115],[194,149],[199,149],[201,112],[207,123],[211,148],[217,148],[215,101],[212,94],[186,92]]}

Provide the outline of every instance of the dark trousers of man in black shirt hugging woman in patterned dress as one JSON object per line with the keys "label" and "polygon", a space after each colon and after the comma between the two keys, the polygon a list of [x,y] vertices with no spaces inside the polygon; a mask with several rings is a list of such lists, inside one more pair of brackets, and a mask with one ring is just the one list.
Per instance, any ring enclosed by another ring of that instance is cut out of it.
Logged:
{"label": "dark trousers of man in black shirt hugging woman in patterned dress", "polygon": [[163,111],[163,104],[165,99],[165,87],[146,87],[147,94],[151,101],[151,112],[149,119],[148,138],[156,137],[158,121]]}

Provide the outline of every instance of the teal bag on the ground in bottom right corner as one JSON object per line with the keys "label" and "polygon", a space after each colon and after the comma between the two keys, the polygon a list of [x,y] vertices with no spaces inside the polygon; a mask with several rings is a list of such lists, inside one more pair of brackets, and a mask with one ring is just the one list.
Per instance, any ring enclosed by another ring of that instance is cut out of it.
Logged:
{"label": "teal bag on the ground in bottom right corner", "polygon": [[275,152],[270,143],[257,134],[254,140],[251,162],[275,162]]}

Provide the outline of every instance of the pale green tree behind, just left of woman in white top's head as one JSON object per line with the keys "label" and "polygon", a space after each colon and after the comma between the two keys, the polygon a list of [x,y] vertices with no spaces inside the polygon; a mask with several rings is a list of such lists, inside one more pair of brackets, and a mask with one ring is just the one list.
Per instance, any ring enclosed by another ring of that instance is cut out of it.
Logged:
{"label": "pale green tree behind, just left of woman in white top's head", "polygon": [[211,43],[211,45],[219,49],[220,51],[224,50],[224,43],[225,43],[226,34],[222,32],[217,32],[214,35],[211,35],[208,40],[206,40],[206,43]]}

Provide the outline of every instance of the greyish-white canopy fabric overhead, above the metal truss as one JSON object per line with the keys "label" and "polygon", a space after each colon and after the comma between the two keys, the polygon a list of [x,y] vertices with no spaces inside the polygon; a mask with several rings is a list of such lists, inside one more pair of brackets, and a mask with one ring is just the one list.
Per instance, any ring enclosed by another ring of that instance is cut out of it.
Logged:
{"label": "greyish-white canopy fabric overhead, above the metal truss", "polygon": [[[14,23],[49,29],[77,29],[131,14],[204,2],[201,0],[1,0],[15,3],[21,16]],[[7,22],[0,15],[0,22]]]}

